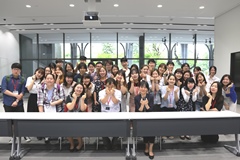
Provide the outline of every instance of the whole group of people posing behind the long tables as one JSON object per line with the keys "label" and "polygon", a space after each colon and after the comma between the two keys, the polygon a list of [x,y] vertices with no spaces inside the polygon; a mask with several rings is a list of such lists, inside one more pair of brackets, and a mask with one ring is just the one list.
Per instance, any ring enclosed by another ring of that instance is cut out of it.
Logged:
{"label": "whole group of people posing behind the long tables", "polygon": [[[216,77],[215,66],[205,76],[200,67],[191,72],[188,63],[174,69],[172,61],[156,66],[155,60],[149,59],[141,68],[136,64],[129,68],[127,58],[122,58],[120,69],[111,60],[86,64],[86,59],[81,56],[75,68],[72,63],[63,66],[57,59],[45,68],[37,68],[26,81],[21,76],[21,64],[13,63],[12,74],[2,79],[5,112],[24,112],[26,90],[30,93],[27,112],[236,112],[232,78],[229,74]],[[180,138],[191,139],[189,135]],[[81,149],[81,137],[77,146],[72,137],[68,140],[71,152]],[[114,149],[116,140],[103,137],[107,149]],[[154,137],[144,137],[144,143],[144,153],[153,159]]]}

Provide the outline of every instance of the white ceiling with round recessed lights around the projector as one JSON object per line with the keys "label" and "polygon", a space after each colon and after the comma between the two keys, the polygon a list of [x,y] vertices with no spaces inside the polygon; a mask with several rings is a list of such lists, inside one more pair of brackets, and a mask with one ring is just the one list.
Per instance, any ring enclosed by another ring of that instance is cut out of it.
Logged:
{"label": "white ceiling with round recessed lights around the projector", "polygon": [[[238,5],[240,0],[102,0],[91,5],[84,0],[0,0],[0,26],[19,33],[213,34],[214,18]],[[99,12],[100,27],[82,24],[89,7]]]}

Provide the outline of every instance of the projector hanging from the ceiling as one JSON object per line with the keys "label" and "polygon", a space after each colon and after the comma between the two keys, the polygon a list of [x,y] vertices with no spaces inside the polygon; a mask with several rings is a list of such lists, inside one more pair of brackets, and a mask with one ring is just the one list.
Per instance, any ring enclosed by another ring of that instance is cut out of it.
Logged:
{"label": "projector hanging from the ceiling", "polygon": [[101,26],[101,22],[100,22],[100,18],[98,17],[98,12],[85,12],[84,15],[84,20],[82,21],[83,25],[85,27],[100,27]]}

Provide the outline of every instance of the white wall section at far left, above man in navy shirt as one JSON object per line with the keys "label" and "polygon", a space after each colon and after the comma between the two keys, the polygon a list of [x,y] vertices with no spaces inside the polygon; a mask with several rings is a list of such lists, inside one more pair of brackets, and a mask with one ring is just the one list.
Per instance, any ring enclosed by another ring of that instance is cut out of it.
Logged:
{"label": "white wall section at far left, above man in navy shirt", "polygon": [[11,64],[19,62],[19,34],[0,27],[0,82],[11,73]]}

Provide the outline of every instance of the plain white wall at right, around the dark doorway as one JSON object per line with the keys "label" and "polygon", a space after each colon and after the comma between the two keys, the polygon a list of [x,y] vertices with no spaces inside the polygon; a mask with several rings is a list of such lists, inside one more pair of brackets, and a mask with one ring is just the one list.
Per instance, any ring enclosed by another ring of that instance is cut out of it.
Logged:
{"label": "plain white wall at right, around the dark doorway", "polygon": [[240,51],[240,6],[215,19],[214,65],[217,76],[230,74],[231,53]]}

